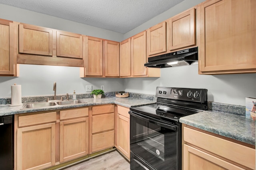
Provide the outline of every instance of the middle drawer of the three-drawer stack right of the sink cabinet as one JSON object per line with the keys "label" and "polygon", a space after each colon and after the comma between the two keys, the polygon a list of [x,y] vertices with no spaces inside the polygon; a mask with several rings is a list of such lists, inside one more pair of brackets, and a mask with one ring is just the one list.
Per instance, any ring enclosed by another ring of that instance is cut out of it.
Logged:
{"label": "middle drawer of the three-drawer stack right of the sink cabinet", "polygon": [[92,133],[114,129],[114,113],[92,116]]}

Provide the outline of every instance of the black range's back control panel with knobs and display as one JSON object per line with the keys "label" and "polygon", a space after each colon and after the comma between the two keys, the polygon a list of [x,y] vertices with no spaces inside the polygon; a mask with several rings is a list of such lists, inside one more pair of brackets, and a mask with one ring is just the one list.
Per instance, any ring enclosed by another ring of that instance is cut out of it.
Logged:
{"label": "black range's back control panel with knobs and display", "polygon": [[207,100],[207,89],[157,87],[156,97],[204,103]]}

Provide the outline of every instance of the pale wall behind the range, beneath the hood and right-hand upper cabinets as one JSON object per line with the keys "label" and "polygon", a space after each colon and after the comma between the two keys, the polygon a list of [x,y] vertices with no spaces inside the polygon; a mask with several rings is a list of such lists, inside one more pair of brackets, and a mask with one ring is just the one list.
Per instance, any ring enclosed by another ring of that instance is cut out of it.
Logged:
{"label": "pale wall behind the range, beneath the hood and right-hand upper cabinets", "polygon": [[208,101],[245,106],[256,98],[256,74],[199,75],[198,65],[160,68],[160,78],[125,78],[128,92],[155,94],[157,86],[206,88]]}

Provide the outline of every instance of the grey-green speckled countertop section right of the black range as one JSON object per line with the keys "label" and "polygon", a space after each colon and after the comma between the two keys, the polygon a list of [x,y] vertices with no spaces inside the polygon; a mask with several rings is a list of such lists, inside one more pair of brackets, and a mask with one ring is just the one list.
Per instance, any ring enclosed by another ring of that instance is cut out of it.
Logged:
{"label": "grey-green speckled countertop section right of the black range", "polygon": [[203,111],[180,118],[180,122],[224,137],[255,145],[255,121],[242,115]]}

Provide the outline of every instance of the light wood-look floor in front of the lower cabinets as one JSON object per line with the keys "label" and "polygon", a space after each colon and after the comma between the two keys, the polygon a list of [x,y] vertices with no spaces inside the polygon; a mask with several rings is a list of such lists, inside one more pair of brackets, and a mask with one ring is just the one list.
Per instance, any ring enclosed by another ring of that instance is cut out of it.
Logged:
{"label": "light wood-look floor in front of the lower cabinets", "polygon": [[114,150],[63,170],[130,170],[130,163]]}

